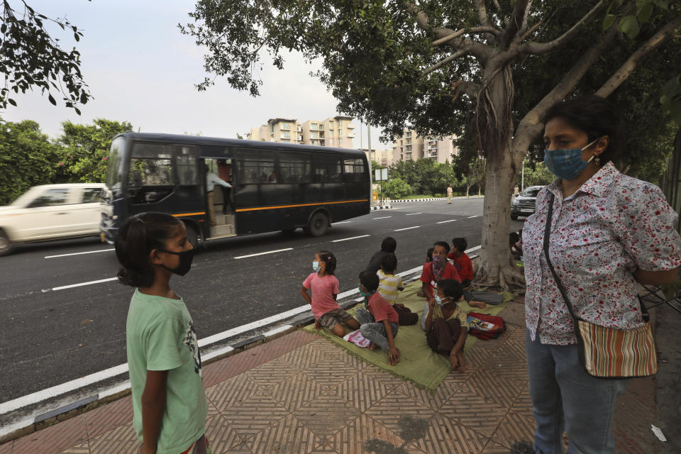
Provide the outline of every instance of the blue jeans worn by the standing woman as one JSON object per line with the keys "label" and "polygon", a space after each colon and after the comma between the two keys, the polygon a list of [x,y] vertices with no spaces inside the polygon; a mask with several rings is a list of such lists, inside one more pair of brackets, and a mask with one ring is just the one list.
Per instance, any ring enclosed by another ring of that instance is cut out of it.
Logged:
{"label": "blue jeans worn by the standing woman", "polygon": [[526,333],[530,397],[537,423],[534,451],[562,454],[567,431],[572,454],[614,453],[615,400],[629,380],[604,380],[580,365],[577,345],[547,345]]}

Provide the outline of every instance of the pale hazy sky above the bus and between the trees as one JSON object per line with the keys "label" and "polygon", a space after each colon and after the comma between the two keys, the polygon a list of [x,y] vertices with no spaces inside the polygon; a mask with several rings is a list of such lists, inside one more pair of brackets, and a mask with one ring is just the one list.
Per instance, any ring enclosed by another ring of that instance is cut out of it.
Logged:
{"label": "pale hazy sky above the bus and between the trees", "polygon": [[[62,48],[75,45],[81,53],[81,71],[94,96],[79,106],[81,116],[61,106],[61,96],[56,94],[57,106],[52,106],[40,90],[13,94],[18,106],[0,111],[6,121],[37,121],[52,138],[61,135],[61,123],[67,120],[92,123],[94,118],[106,118],[130,121],[135,131],[236,138],[268,118],[302,122],[338,114],[336,99],[309,75],[321,65],[306,64],[297,53],[286,57],[284,70],[265,64],[257,98],[232,89],[221,78],[214,87],[198,92],[194,84],[206,77],[204,52],[177,27],[191,21],[192,0],[30,0],[28,4],[50,18],[67,18],[84,33],[76,42],[72,33],[58,27],[53,32]],[[353,145],[360,148],[360,123],[353,123],[357,134]],[[389,148],[378,142],[379,129],[371,132],[372,148]],[[366,148],[366,126],[361,137]]]}

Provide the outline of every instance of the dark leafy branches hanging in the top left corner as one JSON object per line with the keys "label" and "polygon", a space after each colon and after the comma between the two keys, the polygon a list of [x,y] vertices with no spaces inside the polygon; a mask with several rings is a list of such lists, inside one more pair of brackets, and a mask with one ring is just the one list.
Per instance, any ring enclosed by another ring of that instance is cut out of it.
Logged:
{"label": "dark leafy branches hanging in the top left corner", "polygon": [[76,48],[63,49],[45,25],[56,24],[62,31],[73,33],[76,41],[83,33],[66,18],[38,13],[25,0],[13,4],[16,6],[3,1],[0,18],[0,74],[5,82],[0,88],[0,109],[8,104],[16,106],[13,94],[39,88],[50,103],[57,105],[53,94],[61,96],[64,105],[80,115],[77,105],[92,98],[80,72],[80,53]]}

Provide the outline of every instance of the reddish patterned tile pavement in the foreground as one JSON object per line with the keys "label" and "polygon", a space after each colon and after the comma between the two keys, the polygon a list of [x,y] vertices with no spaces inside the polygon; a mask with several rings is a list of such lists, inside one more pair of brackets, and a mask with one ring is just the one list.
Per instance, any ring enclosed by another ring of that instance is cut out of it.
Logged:
{"label": "reddish patterned tile pavement in the foreground", "polygon": [[[534,419],[522,301],[502,316],[507,332],[478,341],[468,370],[435,392],[303,331],[214,362],[204,372],[213,453],[509,453],[533,438]],[[654,386],[633,380],[619,399],[618,453],[651,452]],[[0,445],[0,454],[134,454],[138,446],[128,396]]]}

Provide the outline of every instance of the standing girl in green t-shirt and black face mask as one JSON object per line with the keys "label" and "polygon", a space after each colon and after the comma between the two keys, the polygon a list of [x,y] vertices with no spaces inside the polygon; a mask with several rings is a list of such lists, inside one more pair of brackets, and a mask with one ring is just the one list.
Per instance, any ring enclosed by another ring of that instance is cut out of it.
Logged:
{"label": "standing girl in green t-shirt and black face mask", "polygon": [[184,223],[142,213],[118,232],[118,280],[136,287],[126,343],[133,392],[133,426],[142,454],[209,453],[208,407],[192,317],[170,288],[173,274],[192,267],[194,249]]}

